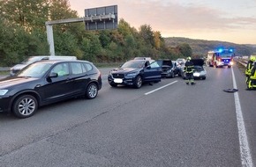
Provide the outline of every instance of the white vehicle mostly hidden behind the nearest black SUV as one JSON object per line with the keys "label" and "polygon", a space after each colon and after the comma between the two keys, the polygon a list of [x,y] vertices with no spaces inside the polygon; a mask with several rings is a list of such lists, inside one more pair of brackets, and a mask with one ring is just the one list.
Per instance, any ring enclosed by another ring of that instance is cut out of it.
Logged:
{"label": "white vehicle mostly hidden behind the nearest black SUV", "polygon": [[41,60],[66,60],[66,61],[74,61],[77,60],[76,56],[67,56],[67,55],[35,55],[35,56],[29,56],[26,60],[23,62],[20,62],[19,64],[16,64],[15,66],[11,67],[10,69],[10,75],[13,76],[19,70],[25,68],[27,65],[38,62]]}

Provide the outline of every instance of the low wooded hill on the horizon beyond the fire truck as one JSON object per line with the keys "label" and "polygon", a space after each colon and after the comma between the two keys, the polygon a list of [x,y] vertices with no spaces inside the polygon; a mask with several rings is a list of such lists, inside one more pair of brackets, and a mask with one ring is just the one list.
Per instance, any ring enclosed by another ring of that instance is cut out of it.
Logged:
{"label": "low wooded hill on the horizon beyond the fire truck", "polygon": [[209,50],[214,50],[217,48],[233,48],[237,55],[252,55],[256,54],[256,44],[255,45],[240,45],[235,43],[230,43],[226,41],[218,40],[192,40],[182,37],[169,37],[164,38],[167,47],[177,47],[177,45],[186,43],[192,47],[192,54],[205,56]]}

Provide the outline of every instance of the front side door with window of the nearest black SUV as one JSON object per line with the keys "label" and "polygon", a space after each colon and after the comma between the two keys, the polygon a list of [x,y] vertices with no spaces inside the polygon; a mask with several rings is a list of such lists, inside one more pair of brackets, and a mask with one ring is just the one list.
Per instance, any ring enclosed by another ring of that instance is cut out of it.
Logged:
{"label": "front side door with window of the nearest black SUV", "polygon": [[44,100],[55,101],[61,98],[68,98],[73,91],[71,74],[68,62],[57,63],[53,69],[49,71],[48,84],[44,86]]}

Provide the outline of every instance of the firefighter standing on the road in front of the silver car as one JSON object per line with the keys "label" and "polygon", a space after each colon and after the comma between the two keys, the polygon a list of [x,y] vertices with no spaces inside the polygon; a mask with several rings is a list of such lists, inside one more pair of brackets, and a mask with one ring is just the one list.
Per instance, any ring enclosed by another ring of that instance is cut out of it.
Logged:
{"label": "firefighter standing on the road in front of the silver car", "polygon": [[194,66],[191,62],[191,57],[187,57],[186,62],[184,63],[184,72],[185,72],[185,84],[195,84],[194,83]]}

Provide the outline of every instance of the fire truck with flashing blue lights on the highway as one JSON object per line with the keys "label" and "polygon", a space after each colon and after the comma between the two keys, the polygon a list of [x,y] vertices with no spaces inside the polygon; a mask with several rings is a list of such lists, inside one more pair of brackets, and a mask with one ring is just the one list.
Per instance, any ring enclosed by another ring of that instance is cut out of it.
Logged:
{"label": "fire truck with flashing blue lights on the highway", "polygon": [[235,54],[233,49],[218,49],[209,51],[207,54],[207,64],[210,67],[223,67],[230,68],[233,65]]}

